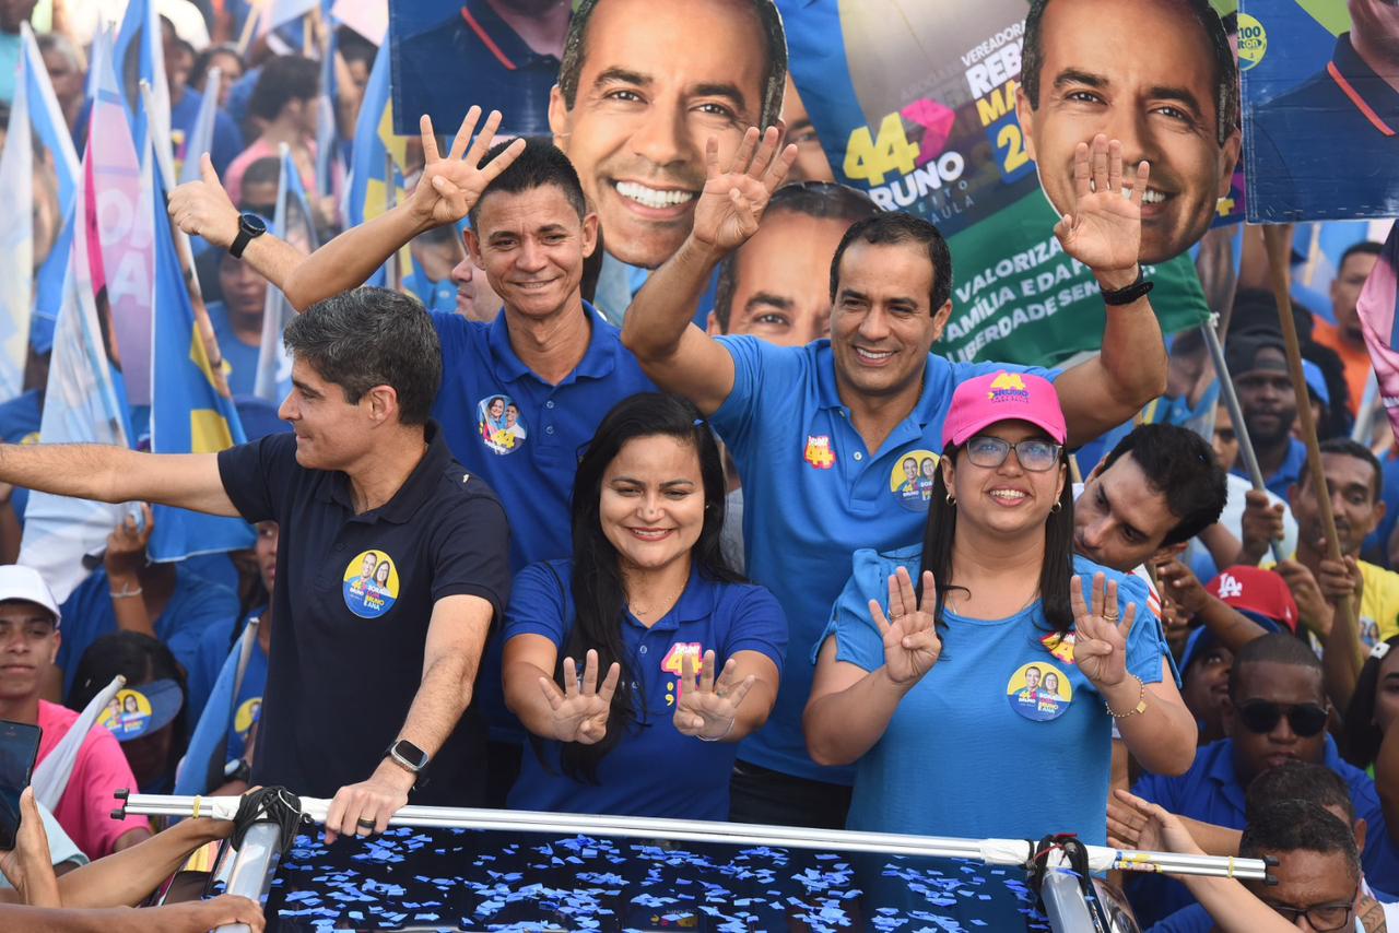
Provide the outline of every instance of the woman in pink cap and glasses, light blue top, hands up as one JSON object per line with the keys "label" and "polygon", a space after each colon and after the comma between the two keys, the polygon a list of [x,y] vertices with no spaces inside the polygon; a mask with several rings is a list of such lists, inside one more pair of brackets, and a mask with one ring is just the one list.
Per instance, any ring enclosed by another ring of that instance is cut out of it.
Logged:
{"label": "woman in pink cap and glasses, light blue top, hands up", "polygon": [[848,828],[1105,845],[1114,720],[1149,771],[1191,767],[1144,586],[1073,554],[1065,436],[1048,380],[964,382],[923,541],[855,553],[804,718],[856,764]]}

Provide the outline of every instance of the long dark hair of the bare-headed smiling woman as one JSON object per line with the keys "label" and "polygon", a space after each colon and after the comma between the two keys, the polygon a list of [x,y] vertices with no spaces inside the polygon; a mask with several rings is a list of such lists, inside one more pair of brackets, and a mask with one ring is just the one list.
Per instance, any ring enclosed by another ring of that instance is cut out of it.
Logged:
{"label": "long dark hair of the bare-headed smiling woman", "polygon": [[[677,396],[655,392],[624,399],[597,425],[588,450],[578,462],[574,480],[574,610],[575,620],[564,650],[558,655],[555,680],[562,683],[564,659],[581,660],[589,649],[597,652],[597,669],[606,671],[613,662],[621,666],[621,680],[613,694],[607,718],[607,736],[592,746],[565,743],[561,754],[564,774],[574,781],[597,783],[597,765],[635,727],[637,708],[631,692],[631,663],[623,639],[627,590],[623,585],[617,548],[603,534],[600,502],[603,474],[623,446],[637,438],[670,436],[694,445],[704,480],[704,526],[700,540],[690,550],[698,572],[711,581],[743,582],[723,555],[723,460],[719,445],[700,411]],[[537,750],[537,747],[536,747]]]}

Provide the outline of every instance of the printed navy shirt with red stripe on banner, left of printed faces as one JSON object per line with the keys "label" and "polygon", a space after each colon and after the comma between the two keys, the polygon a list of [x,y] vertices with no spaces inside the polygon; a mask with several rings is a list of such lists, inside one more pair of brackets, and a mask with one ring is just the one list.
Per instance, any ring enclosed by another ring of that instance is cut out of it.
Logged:
{"label": "printed navy shirt with red stripe on banner, left of printed faces", "polygon": [[530,49],[487,0],[467,0],[395,46],[393,87],[404,108],[431,115],[439,133],[453,133],[467,105],[480,104],[505,115],[502,131],[548,136],[548,91],[560,62]]}

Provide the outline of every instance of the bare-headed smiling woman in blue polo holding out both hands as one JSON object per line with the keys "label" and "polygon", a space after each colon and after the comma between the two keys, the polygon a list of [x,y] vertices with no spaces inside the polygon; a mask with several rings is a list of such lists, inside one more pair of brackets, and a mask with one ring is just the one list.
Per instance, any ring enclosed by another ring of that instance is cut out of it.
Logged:
{"label": "bare-headed smiling woman in blue polo holding out both hands", "polygon": [[574,560],[525,568],[505,699],[515,810],[727,820],[737,741],[776,698],[786,618],[720,550],[723,466],[688,401],[617,404],[578,464]]}

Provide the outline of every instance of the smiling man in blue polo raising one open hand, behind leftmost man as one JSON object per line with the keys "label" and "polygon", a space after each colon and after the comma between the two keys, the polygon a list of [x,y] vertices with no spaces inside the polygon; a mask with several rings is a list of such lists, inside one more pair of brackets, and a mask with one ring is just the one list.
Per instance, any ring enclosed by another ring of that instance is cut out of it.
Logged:
{"label": "smiling man in blue polo raising one open hand, behind leftmost man", "polygon": [[[445,379],[434,406],[448,448],[497,490],[511,516],[511,565],[572,553],[569,495],[578,456],[614,404],[655,392],[616,327],[583,301],[583,260],[597,245],[597,217],[578,173],[548,143],[491,147],[492,113],[463,159],[480,117],[473,108],[446,158],[424,117],[427,165],[411,197],[346,231],[308,259],[274,236],[248,243],[245,259],[295,308],[354,288],[424,229],[470,211],[466,245],[505,306],[492,323],[434,313]],[[490,150],[490,151],[488,151]],[[238,213],[217,179],[176,189],[171,214],[215,246],[238,235]],[[523,730],[505,709],[499,639],[481,676],[483,712],[501,740],[492,746],[492,799],[504,803]]]}

